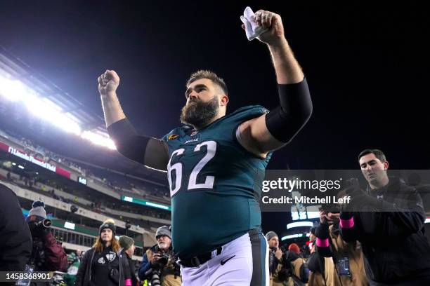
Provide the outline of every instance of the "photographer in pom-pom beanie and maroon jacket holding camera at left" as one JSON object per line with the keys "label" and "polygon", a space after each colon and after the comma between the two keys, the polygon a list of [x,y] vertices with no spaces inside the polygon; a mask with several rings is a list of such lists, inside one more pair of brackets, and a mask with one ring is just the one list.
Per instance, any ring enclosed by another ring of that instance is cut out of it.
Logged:
{"label": "photographer in pom-pom beanie and maroon jacket holding camera at left", "polygon": [[[26,219],[33,239],[32,256],[27,263],[26,271],[65,271],[67,255],[49,229],[51,221],[46,219],[44,207],[43,202],[34,201]],[[31,285],[46,285],[46,282]]]}

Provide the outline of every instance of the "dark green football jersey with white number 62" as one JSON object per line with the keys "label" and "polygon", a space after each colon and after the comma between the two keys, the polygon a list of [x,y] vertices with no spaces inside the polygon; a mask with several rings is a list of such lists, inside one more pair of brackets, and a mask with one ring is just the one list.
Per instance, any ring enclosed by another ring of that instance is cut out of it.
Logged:
{"label": "dark green football jersey with white number 62", "polygon": [[236,139],[240,123],[267,113],[237,109],[201,130],[175,128],[169,146],[172,243],[181,259],[195,257],[261,227],[259,198],[271,158],[259,158]]}

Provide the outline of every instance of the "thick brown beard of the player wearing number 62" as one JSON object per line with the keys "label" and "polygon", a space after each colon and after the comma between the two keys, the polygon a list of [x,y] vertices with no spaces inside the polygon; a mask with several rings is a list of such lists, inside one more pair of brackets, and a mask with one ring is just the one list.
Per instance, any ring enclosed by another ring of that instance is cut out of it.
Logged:
{"label": "thick brown beard of the player wearing number 62", "polygon": [[208,125],[218,114],[218,97],[214,96],[208,102],[194,100],[182,107],[181,123],[192,125],[199,129]]}

